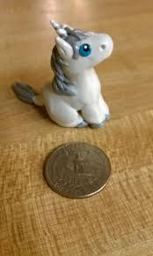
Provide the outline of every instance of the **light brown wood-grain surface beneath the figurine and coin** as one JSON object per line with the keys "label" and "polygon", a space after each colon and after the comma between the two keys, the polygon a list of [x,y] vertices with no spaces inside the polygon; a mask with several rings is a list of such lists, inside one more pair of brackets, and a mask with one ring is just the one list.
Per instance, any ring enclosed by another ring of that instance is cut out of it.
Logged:
{"label": "light brown wood-grain surface beneath the figurine and coin", "polygon": [[[113,116],[105,128],[58,127],[11,91],[53,78],[52,18],[113,37],[113,56],[96,68]],[[153,2],[1,0],[0,23],[0,255],[153,255]],[[89,199],[63,198],[43,178],[47,154],[68,141],[112,162]]]}

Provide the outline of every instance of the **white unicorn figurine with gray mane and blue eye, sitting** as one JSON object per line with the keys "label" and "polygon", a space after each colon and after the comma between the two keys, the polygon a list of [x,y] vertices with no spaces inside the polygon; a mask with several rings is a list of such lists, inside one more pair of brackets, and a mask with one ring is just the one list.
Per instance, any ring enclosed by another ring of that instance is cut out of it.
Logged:
{"label": "white unicorn figurine with gray mane and blue eye, sitting", "polygon": [[24,102],[45,105],[49,117],[63,127],[104,126],[110,114],[93,67],[112,54],[113,40],[55,20],[51,24],[58,34],[51,56],[52,83],[41,94],[15,83],[14,92]]}

